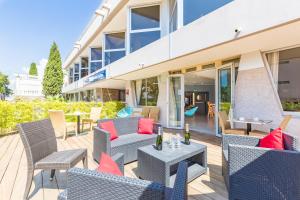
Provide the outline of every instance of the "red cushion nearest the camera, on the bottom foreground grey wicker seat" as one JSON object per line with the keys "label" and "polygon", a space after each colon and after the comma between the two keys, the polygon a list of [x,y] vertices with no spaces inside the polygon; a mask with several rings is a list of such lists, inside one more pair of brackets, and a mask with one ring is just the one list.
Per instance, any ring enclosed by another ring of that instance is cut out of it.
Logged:
{"label": "red cushion nearest the camera, on the bottom foreground grey wicker seat", "polygon": [[118,176],[123,176],[117,163],[106,153],[101,153],[99,166],[96,170],[98,172],[104,172],[104,173],[114,174],[114,175],[118,175]]}

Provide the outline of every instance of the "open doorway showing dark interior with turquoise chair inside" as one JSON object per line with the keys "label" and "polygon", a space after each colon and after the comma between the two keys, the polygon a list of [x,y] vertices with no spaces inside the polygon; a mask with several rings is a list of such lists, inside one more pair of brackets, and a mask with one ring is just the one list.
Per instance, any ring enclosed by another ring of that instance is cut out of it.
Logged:
{"label": "open doorway showing dark interior with turquoise chair inside", "polygon": [[184,74],[184,121],[191,130],[215,135],[215,84],[215,68]]}

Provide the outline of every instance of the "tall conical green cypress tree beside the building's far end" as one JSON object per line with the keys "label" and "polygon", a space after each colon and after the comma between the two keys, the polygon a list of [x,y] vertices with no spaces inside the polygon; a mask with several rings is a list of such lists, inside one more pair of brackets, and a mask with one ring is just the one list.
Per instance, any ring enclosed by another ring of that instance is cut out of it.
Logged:
{"label": "tall conical green cypress tree beside the building's far end", "polygon": [[61,95],[63,70],[59,49],[54,42],[50,49],[43,79],[43,93],[46,97]]}

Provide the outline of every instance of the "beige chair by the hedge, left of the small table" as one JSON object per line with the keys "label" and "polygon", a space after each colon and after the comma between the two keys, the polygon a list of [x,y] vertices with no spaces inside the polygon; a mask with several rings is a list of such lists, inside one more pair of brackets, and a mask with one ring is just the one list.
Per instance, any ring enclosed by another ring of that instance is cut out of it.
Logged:
{"label": "beige chair by the hedge, left of the small table", "polygon": [[66,122],[65,113],[62,110],[49,110],[49,117],[51,119],[56,137],[63,136],[67,139],[69,129],[75,131],[77,136],[77,124],[74,122]]}

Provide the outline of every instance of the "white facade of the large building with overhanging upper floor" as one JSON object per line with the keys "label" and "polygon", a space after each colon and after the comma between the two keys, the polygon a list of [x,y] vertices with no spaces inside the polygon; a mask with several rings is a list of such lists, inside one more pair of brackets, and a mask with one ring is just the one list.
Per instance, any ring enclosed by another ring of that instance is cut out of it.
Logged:
{"label": "white facade of the large building with overhanging upper floor", "polygon": [[[174,2],[176,3],[174,4]],[[282,97],[277,92],[278,80],[270,70],[266,54],[299,47],[300,1],[226,1],[224,5],[199,16],[189,24],[184,22],[187,13],[184,2],[188,2],[188,0],[106,1],[96,11],[92,22],[64,62],[66,70],[73,68],[76,63],[81,65],[82,57],[91,58],[91,48],[101,47],[103,49],[101,68],[67,84],[63,88],[63,92],[68,94],[93,88],[126,89],[127,103],[131,106],[139,106],[132,88],[133,81],[157,76],[159,85],[157,106],[161,109],[161,123],[170,127],[172,100],[170,100],[169,81],[172,77],[171,74],[179,71],[180,75],[175,75],[175,77],[180,77],[184,83],[184,74],[188,69],[195,68],[196,71],[203,71],[208,64],[213,64],[216,70],[214,78],[216,94],[218,94],[220,92],[218,73],[228,67],[228,65],[224,65],[226,61],[238,59],[237,80],[232,83],[234,85],[231,97],[232,115],[271,119],[272,124],[255,127],[268,130],[275,128],[285,115],[292,114],[294,118],[288,130],[299,134],[300,120],[298,116],[300,114],[299,112],[288,112],[284,108]],[[154,26],[148,31],[159,30],[160,38],[131,52],[132,33],[147,31],[145,29],[132,30],[132,9],[154,5],[159,5],[159,26]],[[208,7],[209,5],[203,6]],[[177,12],[176,30],[171,32],[173,29],[170,29],[170,25],[174,21],[172,18],[174,10]],[[106,35],[116,32],[125,33],[125,56],[104,65],[103,63],[107,59],[105,56]],[[234,72],[234,67],[232,69]],[[104,71],[103,79],[89,81],[95,80],[95,76]],[[232,75],[233,77],[234,75]],[[282,81],[282,84],[289,81],[291,80]],[[184,89],[182,88],[180,91],[183,96]],[[219,104],[219,100],[220,97],[216,95],[215,103]],[[251,109],[247,109],[249,106]],[[180,115],[182,118],[179,128],[182,128],[184,123],[183,107],[181,105],[181,110],[177,111],[180,112],[178,116]],[[216,111],[219,107],[216,106]]]}

